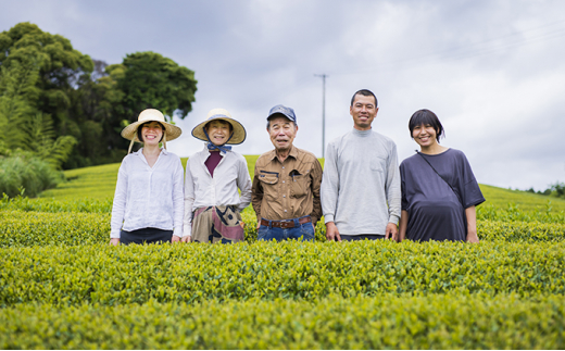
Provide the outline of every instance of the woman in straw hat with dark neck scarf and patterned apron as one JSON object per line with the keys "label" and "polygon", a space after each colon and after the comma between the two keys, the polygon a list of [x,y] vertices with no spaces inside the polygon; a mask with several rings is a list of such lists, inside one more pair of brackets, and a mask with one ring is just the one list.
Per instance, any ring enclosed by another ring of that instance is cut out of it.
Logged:
{"label": "woman in straw hat with dark neck scarf and patterned apron", "polygon": [[226,110],[214,109],[192,136],[206,145],[187,162],[183,241],[242,241],[240,212],[251,202],[251,178],[246,159],[226,145],[243,142],[246,129]]}

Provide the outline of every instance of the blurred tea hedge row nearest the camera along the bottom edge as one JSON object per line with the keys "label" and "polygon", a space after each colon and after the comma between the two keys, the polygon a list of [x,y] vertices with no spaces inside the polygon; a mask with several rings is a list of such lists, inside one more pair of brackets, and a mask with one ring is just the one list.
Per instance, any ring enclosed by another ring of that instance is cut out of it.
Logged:
{"label": "blurred tea hedge row nearest the camera along the bottom edge", "polygon": [[1,349],[564,349],[563,296],[0,310]]}

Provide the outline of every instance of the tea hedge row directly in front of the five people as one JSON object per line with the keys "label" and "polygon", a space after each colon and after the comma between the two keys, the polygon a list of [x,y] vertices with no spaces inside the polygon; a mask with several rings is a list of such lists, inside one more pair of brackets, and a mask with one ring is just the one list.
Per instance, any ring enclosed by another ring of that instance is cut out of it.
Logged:
{"label": "tea hedge row directly in front of the five people", "polygon": [[565,294],[565,242],[256,242],[0,249],[0,306],[315,300],[392,293]]}

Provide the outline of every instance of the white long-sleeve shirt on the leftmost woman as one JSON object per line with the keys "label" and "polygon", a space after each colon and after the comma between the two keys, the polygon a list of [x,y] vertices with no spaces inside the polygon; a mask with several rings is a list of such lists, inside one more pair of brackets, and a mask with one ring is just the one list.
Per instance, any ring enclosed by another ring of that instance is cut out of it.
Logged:
{"label": "white long-sleeve shirt on the leftmost woman", "polygon": [[183,236],[184,195],[180,159],[165,149],[150,167],[143,149],[124,158],[117,173],[111,238],[120,230],[158,228]]}

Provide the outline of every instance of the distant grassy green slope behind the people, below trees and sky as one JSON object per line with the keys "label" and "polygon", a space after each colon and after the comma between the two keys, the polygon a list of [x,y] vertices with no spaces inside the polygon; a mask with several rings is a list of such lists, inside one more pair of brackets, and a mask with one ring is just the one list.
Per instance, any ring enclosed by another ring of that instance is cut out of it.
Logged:
{"label": "distant grassy green slope behind the people, below trees and sky", "polygon": [[[253,168],[258,155],[246,155],[248,161],[249,174],[253,175]],[[183,166],[186,166],[187,159],[181,159]],[[321,160],[323,162],[324,160]],[[322,163],[324,164],[324,163]],[[42,198],[54,198],[56,200],[76,199],[80,197],[90,199],[108,199],[114,196],[117,170],[120,163],[85,167],[66,171],[68,179],[59,185],[56,189],[51,189],[41,193]],[[497,188],[488,185],[480,185],[482,193],[487,199],[486,204],[495,209],[507,209],[508,205],[517,205],[524,211],[544,211],[548,201],[551,201],[552,212],[565,211],[565,200],[540,196],[536,193]]]}

